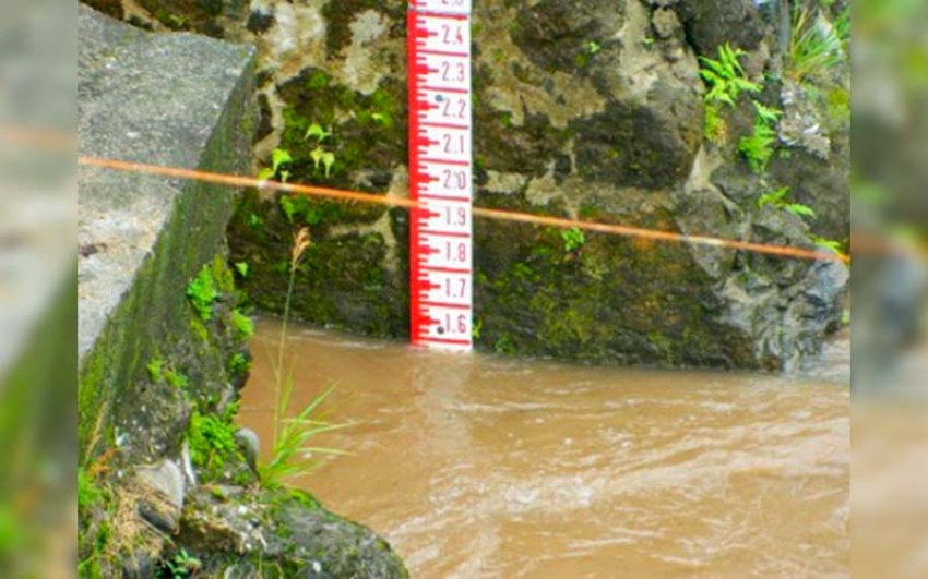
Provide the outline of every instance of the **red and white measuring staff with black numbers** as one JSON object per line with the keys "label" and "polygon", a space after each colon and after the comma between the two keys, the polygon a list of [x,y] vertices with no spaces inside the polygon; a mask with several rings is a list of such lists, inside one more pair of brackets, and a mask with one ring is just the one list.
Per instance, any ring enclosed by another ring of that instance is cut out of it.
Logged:
{"label": "red and white measuring staff with black numbers", "polygon": [[473,343],[471,0],[411,0],[411,341]]}

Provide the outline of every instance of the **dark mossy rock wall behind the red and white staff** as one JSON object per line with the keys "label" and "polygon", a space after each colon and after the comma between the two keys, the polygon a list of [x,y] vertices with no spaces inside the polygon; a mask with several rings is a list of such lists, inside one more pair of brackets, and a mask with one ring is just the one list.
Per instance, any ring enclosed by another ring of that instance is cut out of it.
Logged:
{"label": "dark mossy rock wall behind the red and white staff", "polygon": [[[476,2],[475,204],[809,249],[812,233],[844,241],[846,129],[819,122],[822,107],[810,114],[802,91],[786,102],[785,10],[778,0]],[[292,181],[407,195],[405,15],[402,0],[267,0],[213,21],[259,47],[262,164],[279,147]],[[751,98],[725,110],[722,140],[704,136],[698,57],[726,44],[748,51],[758,101],[785,110],[763,174],[738,152],[754,124]],[[789,119],[800,135],[818,124],[825,141],[790,141]],[[331,135],[308,137],[313,124]],[[320,147],[334,154],[331,169],[313,160]],[[821,213],[811,231],[758,206],[784,185]],[[305,225],[314,243],[294,314],[405,337],[398,209],[247,194],[229,231],[233,258],[251,266],[251,299],[282,309],[293,231]],[[559,230],[485,220],[475,244],[476,343],[499,352],[788,367],[819,351],[844,286],[842,266],[596,234],[568,243]]]}

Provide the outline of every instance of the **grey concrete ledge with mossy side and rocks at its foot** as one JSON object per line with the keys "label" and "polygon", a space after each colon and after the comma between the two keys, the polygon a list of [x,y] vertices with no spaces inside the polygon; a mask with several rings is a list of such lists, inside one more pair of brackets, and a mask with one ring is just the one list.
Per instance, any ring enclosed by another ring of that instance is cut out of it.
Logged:
{"label": "grey concrete ledge with mossy side and rocks at its foot", "polygon": [[[83,5],[78,28],[82,155],[250,172],[253,48]],[[266,490],[253,433],[238,444],[252,326],[227,265],[236,192],[88,167],[79,182],[79,575],[227,577],[250,560],[243,577],[267,577],[262,562],[405,577],[369,529]]]}

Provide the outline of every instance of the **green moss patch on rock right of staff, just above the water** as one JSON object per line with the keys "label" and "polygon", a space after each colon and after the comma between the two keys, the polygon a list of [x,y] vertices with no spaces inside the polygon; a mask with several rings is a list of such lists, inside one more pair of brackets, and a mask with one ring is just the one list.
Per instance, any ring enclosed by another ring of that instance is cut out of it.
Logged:
{"label": "green moss patch on rock right of staff, just above the water", "polygon": [[[483,204],[521,209],[520,196],[487,196]],[[608,206],[608,205],[606,205]],[[559,215],[557,206],[535,207]],[[619,220],[675,230],[671,215],[653,209],[635,220],[581,207],[586,219]],[[678,366],[733,365],[722,343],[730,328],[706,324],[703,300],[712,281],[675,244],[587,233],[566,252],[562,230],[475,222],[475,310],[479,348],[584,362]]]}

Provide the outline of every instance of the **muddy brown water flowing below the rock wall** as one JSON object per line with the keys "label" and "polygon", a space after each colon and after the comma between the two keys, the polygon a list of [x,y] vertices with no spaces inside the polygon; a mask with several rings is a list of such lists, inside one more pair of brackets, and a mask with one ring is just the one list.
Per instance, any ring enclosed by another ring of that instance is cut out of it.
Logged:
{"label": "muddy brown water flowing below the rock wall", "polygon": [[[279,323],[241,420],[266,450]],[[846,577],[849,345],[802,376],[587,367],[290,326],[294,403],[355,421],[296,481],[416,578]]]}

